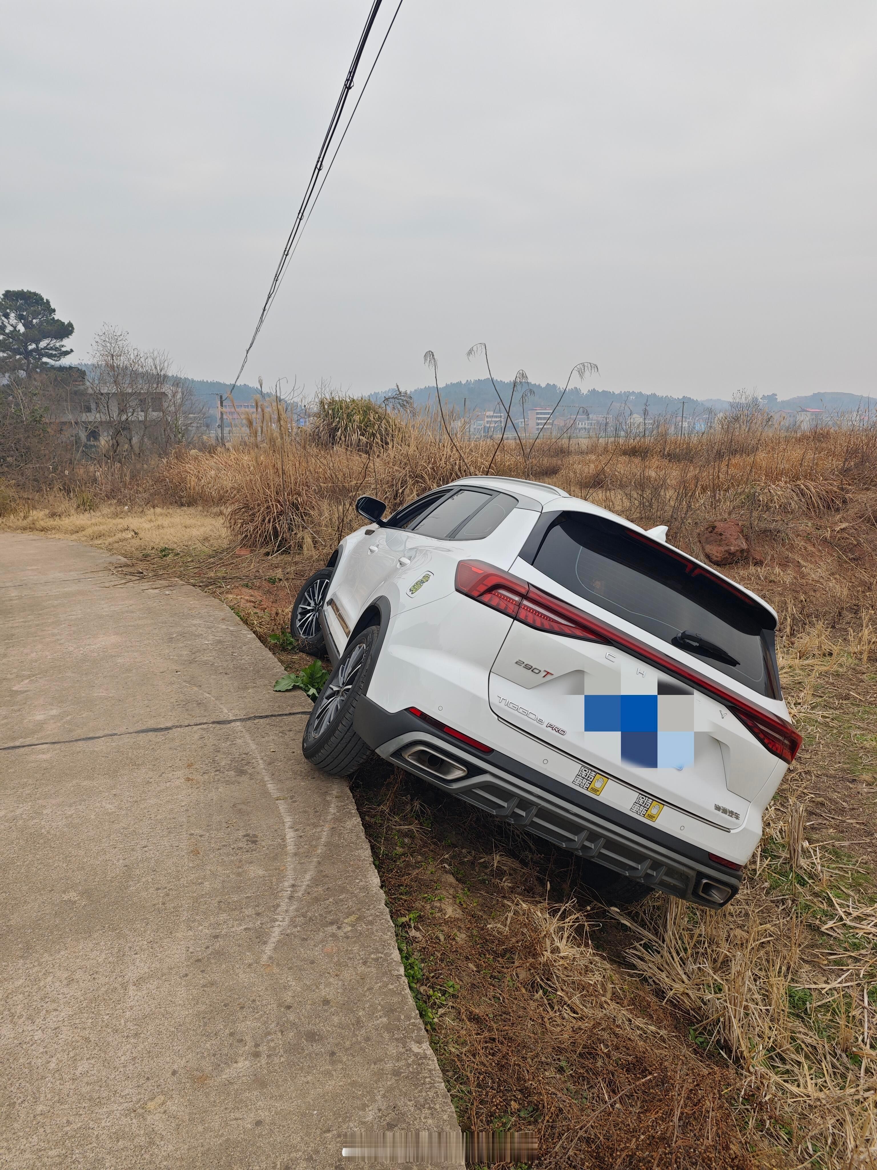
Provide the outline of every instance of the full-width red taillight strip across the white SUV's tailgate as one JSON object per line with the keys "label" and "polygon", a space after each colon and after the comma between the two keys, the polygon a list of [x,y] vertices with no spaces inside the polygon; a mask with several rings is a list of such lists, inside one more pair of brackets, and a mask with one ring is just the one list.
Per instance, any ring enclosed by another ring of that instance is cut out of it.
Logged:
{"label": "full-width red taillight strip across the white SUV's tailgate", "polygon": [[662,654],[661,651],[647,642],[641,642],[638,638],[633,638],[613,626],[607,626],[599,618],[582,613],[581,610],[552,597],[551,593],[543,592],[520,577],[513,577],[483,560],[461,560],[457,565],[455,584],[458,593],[465,593],[472,600],[481,601],[482,605],[499,610],[533,629],[615,646],[617,649],[657,667],[663,674],[688,682],[696,690],[710,695],[730,708],[772,756],[778,756],[787,764],[792,763],[801,746],[801,736],[786,720],[778,715],[768,715],[767,711],[753,707],[752,703],[713,682],[712,679],[706,679],[698,670]]}

